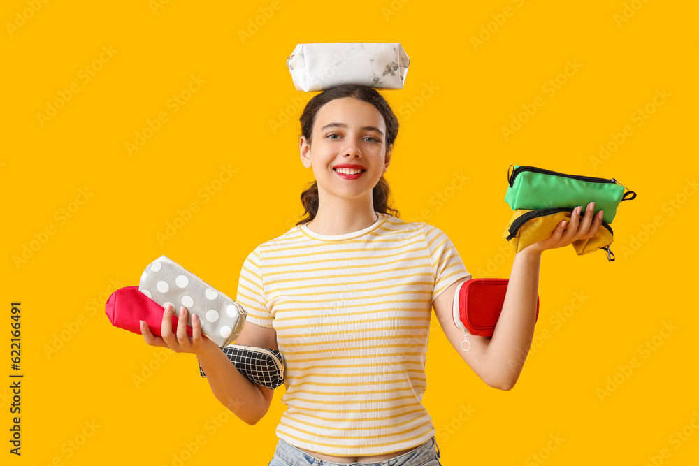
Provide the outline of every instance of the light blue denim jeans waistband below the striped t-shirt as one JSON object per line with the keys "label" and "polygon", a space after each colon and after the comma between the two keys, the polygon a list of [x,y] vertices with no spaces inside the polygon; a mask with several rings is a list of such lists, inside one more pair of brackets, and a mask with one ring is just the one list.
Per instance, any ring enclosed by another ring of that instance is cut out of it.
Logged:
{"label": "light blue denim jeans waistband below the striped t-shirt", "polygon": [[275,456],[294,466],[417,466],[424,465],[429,460],[440,458],[439,446],[435,437],[432,437],[424,444],[416,446],[402,455],[388,460],[376,461],[374,463],[333,463],[329,460],[322,460],[311,456],[305,451],[301,451],[295,446],[279,439]]}

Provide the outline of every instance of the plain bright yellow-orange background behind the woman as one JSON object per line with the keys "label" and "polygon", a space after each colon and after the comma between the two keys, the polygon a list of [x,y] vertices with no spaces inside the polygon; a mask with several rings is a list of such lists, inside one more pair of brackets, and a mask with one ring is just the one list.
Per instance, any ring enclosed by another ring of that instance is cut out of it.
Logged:
{"label": "plain bright yellow-orange background behind the woman", "polygon": [[[535,345],[512,391],[478,379],[433,319],[424,403],[442,463],[696,464],[695,3],[152,3],[1,8],[3,464],[271,460],[283,386],[265,418],[247,425],[214,398],[194,355],[113,328],[103,303],[162,254],[235,296],[245,256],[300,219],[299,195],[312,181],[298,159],[298,116],[315,93],[294,89],[286,58],[297,43],[357,41],[400,42],[410,56],[405,88],[383,92],[401,120],[387,179],[401,218],[445,231],[474,277],[510,275],[514,256],[501,237],[512,215],[510,164],[616,177],[637,193],[612,225],[616,261],[572,247],[542,254]],[[241,38],[246,29],[254,34]],[[568,61],[579,67],[561,75]],[[101,69],[85,82],[93,65]],[[174,112],[168,101],[192,76],[206,82]],[[552,94],[545,86],[556,79],[565,82]],[[40,121],[71,85],[79,92]],[[544,105],[505,138],[502,127],[538,97]],[[653,111],[638,119],[646,107]],[[160,112],[168,121],[129,154],[127,143]],[[596,163],[625,126],[633,133]],[[217,185],[222,166],[236,174]],[[456,174],[468,180],[452,190]],[[215,196],[201,195],[212,183]],[[159,241],[191,203],[198,212]],[[41,242],[47,228],[55,230]],[[36,250],[15,264],[30,244]],[[21,457],[8,453],[17,300]],[[670,322],[677,328],[661,332]],[[631,358],[640,365],[624,376],[619,366]],[[137,384],[147,365],[157,369]],[[600,398],[615,376],[621,383]],[[564,440],[549,442],[556,436]]]}

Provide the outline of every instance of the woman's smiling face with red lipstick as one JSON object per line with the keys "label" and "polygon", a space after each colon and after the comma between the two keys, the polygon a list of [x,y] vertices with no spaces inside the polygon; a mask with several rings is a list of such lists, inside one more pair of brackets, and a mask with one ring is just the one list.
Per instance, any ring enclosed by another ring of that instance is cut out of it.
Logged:
{"label": "woman's smiling face with red lipstick", "polygon": [[[311,142],[299,140],[301,161],[313,169],[320,199],[331,197],[369,200],[372,189],[391,161],[386,147],[386,123],[381,112],[368,102],[343,97],[318,110]],[[338,165],[361,166],[359,175],[343,175]]]}

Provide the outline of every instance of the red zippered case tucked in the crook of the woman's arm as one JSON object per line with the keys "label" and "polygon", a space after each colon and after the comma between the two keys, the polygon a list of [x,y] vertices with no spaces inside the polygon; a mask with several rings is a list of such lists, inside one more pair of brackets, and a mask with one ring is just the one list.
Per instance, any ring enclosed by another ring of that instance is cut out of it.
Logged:
{"label": "red zippered case tucked in the crook of the woman's arm", "polygon": [[[466,340],[466,330],[470,335],[492,337],[495,326],[503,311],[505,293],[507,293],[507,278],[473,278],[462,282],[454,292],[452,317],[454,325],[463,330],[463,341]],[[536,296],[536,318],[539,319],[539,295]],[[470,348],[470,343],[469,346]],[[463,342],[461,343],[463,348]],[[464,349],[468,351],[468,349]]]}

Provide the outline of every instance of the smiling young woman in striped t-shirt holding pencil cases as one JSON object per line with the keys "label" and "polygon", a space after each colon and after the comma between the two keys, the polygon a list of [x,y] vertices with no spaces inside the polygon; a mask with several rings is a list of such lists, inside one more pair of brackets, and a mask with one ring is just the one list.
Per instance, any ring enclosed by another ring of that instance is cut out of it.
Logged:
{"label": "smiling young woman in striped t-shirt holding pencil cases", "polygon": [[[288,409],[269,465],[440,465],[421,403],[432,307],[478,377],[510,390],[533,336],[541,252],[591,238],[602,212],[594,216],[589,205],[579,219],[575,211],[570,224],[519,252],[493,336],[471,336],[463,351],[452,300],[471,275],[445,233],[403,221],[388,205],[383,175],[398,134],[388,103],[370,87],[326,89],[306,105],[301,131],[301,162],[315,176],[301,195],[308,217],[247,256],[236,298],[248,311],[236,343],[284,357]],[[216,398],[257,423],[273,390],[240,374],[201,337],[198,320],[187,337],[184,307],[173,335],[171,312],[168,306],[162,337],[143,328],[147,344],[196,354]]]}

